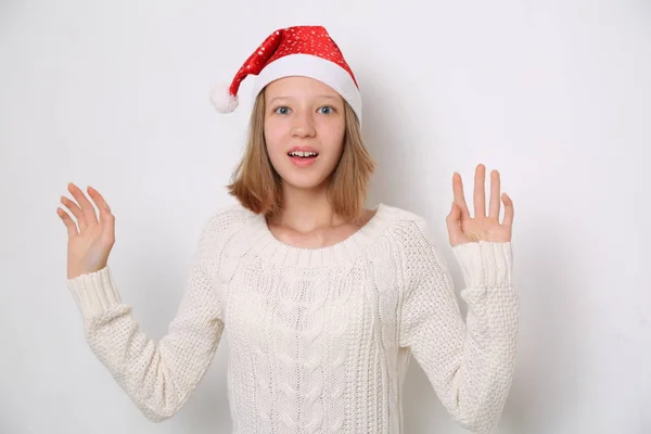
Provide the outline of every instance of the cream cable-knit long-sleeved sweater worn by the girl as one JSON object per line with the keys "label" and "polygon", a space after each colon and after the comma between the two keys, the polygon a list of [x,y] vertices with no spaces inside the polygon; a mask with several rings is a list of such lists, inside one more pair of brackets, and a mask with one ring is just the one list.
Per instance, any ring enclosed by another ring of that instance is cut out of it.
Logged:
{"label": "cream cable-knit long-sleeved sweater worn by the girl", "polygon": [[489,433],[515,356],[511,244],[454,252],[465,321],[423,218],[385,204],[323,248],[282,243],[240,205],[219,209],[159,342],[140,330],[108,267],[67,283],[93,353],[154,421],[188,400],[226,331],[233,433],[401,433],[411,354],[451,417]]}

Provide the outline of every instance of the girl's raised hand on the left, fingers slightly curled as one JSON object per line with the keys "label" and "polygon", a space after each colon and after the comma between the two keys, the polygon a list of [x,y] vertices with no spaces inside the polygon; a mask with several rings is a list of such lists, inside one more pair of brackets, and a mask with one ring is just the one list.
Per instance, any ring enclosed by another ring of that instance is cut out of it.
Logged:
{"label": "girl's raised hand on the left, fingers slightly curled", "polygon": [[67,277],[74,279],[106,267],[115,243],[115,216],[104,197],[92,187],[88,188],[88,194],[100,212],[99,220],[84,192],[72,182],[67,187],[77,202],[61,196],[61,203],[73,213],[77,224],[62,208],[56,208],[56,214],[67,228]]}

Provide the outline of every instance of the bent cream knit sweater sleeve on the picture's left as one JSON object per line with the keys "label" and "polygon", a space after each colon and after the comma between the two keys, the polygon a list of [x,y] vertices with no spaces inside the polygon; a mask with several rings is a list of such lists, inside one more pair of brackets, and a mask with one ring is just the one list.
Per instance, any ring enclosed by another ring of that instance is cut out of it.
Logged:
{"label": "bent cream knit sweater sleeve on the picture's left", "polygon": [[84,318],[86,339],[98,359],[146,418],[170,418],[205,374],[224,330],[221,305],[206,272],[209,227],[193,258],[184,294],[167,334],[154,342],[120,301],[108,266],[68,279]]}

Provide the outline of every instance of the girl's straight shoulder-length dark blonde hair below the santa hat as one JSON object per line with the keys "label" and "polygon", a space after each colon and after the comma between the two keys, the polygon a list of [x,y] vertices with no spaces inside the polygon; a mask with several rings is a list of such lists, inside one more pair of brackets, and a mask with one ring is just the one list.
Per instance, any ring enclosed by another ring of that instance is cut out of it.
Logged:
{"label": "girl's straight shoulder-length dark blonde hair below the santa hat", "polygon": [[[357,115],[344,100],[345,135],[341,159],[331,174],[328,200],[335,214],[347,221],[360,224],[363,202],[375,163],[361,139]],[[265,143],[265,92],[255,100],[251,113],[248,139],[242,159],[235,167],[229,194],[242,206],[271,219],[282,209],[282,178],[273,168]]]}

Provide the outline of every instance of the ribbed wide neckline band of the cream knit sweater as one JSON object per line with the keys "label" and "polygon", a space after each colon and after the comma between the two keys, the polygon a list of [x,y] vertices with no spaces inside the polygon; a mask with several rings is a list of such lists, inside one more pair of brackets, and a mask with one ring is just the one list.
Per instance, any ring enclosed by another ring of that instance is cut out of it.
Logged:
{"label": "ribbed wide neckline band of the cream knit sweater", "polygon": [[371,209],[375,214],[366,225],[346,239],[324,247],[298,247],[280,241],[269,229],[264,214],[253,214],[254,240],[250,247],[256,255],[280,266],[320,268],[350,264],[391,221],[392,207],[380,203]]}

